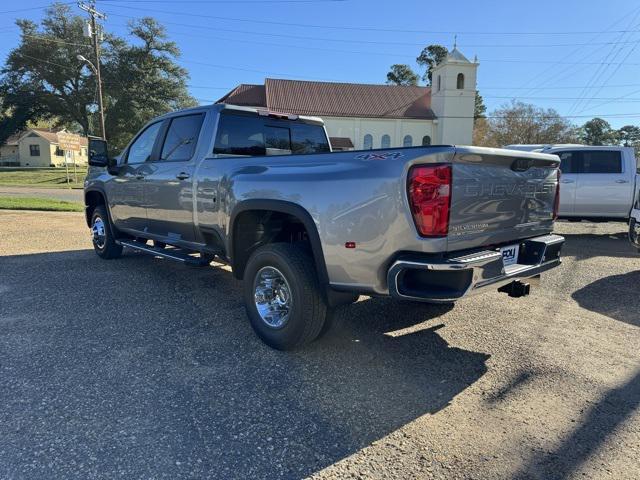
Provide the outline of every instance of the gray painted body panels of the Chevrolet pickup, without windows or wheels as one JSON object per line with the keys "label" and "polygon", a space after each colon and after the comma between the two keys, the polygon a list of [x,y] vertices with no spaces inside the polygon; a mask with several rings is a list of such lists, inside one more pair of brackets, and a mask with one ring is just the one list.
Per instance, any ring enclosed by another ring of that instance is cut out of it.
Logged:
{"label": "gray painted body panels of the Chevrolet pickup, without windows or wheels", "polygon": [[[213,248],[217,239],[218,253],[230,261],[238,212],[290,206],[306,217],[307,229],[316,229],[320,252],[314,254],[324,260],[321,274],[329,284],[371,294],[389,294],[389,269],[404,253],[445,258],[553,230],[557,156],[454,146],[221,156],[212,152],[224,108],[189,111],[205,114],[191,160],[123,165],[117,175],[92,167],[85,190],[104,193],[118,229],[194,250]],[[414,165],[434,163],[452,165],[449,235],[423,238],[410,211],[407,176]]]}

